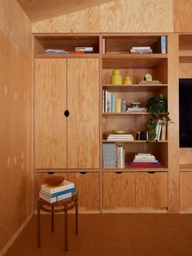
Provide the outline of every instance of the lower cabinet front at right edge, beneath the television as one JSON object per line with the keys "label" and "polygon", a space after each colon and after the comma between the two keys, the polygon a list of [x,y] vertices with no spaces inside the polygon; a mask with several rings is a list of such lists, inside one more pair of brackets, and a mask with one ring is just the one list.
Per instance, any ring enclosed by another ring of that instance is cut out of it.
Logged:
{"label": "lower cabinet front at right edge, beneath the television", "polygon": [[180,210],[192,213],[192,172],[180,173]]}

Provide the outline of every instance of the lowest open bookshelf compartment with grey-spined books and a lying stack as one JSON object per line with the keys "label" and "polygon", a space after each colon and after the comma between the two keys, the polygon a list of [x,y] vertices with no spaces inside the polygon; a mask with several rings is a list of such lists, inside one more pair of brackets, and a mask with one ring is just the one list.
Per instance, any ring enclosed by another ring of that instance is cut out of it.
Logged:
{"label": "lowest open bookshelf compartment with grey-spined books and a lying stack", "polygon": [[[130,146],[130,142],[103,142],[103,170],[168,168],[168,143],[131,143]],[[137,155],[150,157],[137,160]]]}

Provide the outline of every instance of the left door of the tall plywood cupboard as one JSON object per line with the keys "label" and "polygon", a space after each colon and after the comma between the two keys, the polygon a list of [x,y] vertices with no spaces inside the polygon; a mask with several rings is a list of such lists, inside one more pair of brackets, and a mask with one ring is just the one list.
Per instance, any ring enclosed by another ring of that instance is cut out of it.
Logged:
{"label": "left door of the tall plywood cupboard", "polygon": [[35,168],[67,167],[67,61],[35,60]]}

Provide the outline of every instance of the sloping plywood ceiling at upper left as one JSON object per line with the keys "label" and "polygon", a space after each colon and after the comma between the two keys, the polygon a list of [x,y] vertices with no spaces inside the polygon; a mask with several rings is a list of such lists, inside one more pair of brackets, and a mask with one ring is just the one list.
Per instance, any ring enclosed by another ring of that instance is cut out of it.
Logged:
{"label": "sloping plywood ceiling at upper left", "polygon": [[46,20],[55,16],[98,6],[111,0],[17,0],[29,19]]}

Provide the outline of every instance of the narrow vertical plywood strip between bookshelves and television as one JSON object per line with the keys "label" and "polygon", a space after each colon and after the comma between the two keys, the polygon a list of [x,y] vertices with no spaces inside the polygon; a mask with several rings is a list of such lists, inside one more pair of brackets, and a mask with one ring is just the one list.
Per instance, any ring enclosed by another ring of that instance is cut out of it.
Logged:
{"label": "narrow vertical plywood strip between bookshelves and television", "polygon": [[168,125],[168,212],[179,212],[179,91],[178,91],[177,34],[168,35],[168,111],[172,123]]}

